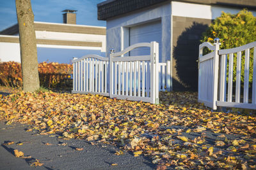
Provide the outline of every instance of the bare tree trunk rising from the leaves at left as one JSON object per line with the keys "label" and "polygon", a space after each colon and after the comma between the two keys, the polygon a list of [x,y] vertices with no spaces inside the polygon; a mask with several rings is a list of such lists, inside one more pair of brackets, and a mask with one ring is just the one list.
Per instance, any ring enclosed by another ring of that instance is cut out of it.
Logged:
{"label": "bare tree trunk rising from the leaves at left", "polygon": [[17,20],[19,23],[20,58],[24,92],[35,92],[39,89],[38,60],[34,14],[30,0],[15,0]]}

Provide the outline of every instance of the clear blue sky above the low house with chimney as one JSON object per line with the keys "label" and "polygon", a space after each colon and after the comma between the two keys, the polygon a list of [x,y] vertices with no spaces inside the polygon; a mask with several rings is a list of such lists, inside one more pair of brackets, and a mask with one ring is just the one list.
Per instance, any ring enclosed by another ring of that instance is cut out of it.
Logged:
{"label": "clear blue sky above the low house with chimney", "polygon": [[[97,4],[104,0],[31,0],[35,21],[63,23],[62,10],[77,10],[77,24],[106,26],[97,20]],[[0,0],[0,31],[17,23],[15,0]]]}

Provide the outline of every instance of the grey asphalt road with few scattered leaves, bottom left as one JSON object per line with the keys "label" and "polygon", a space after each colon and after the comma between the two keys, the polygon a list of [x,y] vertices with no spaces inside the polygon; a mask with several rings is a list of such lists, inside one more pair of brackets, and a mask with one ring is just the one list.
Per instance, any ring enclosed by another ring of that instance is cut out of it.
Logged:
{"label": "grey asphalt road with few scattered leaves, bottom left", "polygon": [[[81,139],[64,140],[51,135],[38,135],[33,131],[27,132],[27,128],[28,125],[5,125],[0,121],[0,144],[14,141],[12,145],[0,146],[0,169],[156,169],[156,165],[147,157],[134,157],[128,152],[115,155],[118,150],[115,146],[91,145]],[[31,158],[15,157],[13,150],[24,152],[25,156],[30,155]],[[31,166],[36,159],[44,166]]]}

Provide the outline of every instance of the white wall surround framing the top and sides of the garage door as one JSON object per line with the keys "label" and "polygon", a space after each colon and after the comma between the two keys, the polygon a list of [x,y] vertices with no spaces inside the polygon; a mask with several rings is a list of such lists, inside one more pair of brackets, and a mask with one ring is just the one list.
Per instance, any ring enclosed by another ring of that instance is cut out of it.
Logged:
{"label": "white wall surround framing the top and sides of the garage door", "polygon": [[[162,24],[162,60],[170,59],[170,30],[171,30],[171,5],[170,3],[157,6],[156,8],[149,8],[147,10],[135,11],[129,15],[122,15],[122,17],[111,18],[107,20],[107,48],[106,53],[109,56],[109,51],[114,48],[115,52],[119,52],[127,47],[127,31],[126,27],[134,25],[145,24],[154,20],[161,20]],[[124,28],[124,29],[123,29]],[[123,33],[124,32],[124,33]],[[123,37],[124,36],[124,37]],[[126,38],[125,38],[126,37]],[[161,60],[161,59],[160,59]]]}

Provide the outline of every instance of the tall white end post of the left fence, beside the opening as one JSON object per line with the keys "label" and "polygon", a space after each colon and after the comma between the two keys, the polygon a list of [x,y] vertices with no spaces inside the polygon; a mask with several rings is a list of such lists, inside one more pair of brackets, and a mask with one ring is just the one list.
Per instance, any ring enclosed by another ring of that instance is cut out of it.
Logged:
{"label": "tall white end post of the left fence, beside the opening", "polygon": [[150,42],[150,98],[151,102],[153,104],[159,103],[159,87],[158,87],[158,81],[159,81],[159,74],[158,74],[158,58],[159,58],[159,52],[158,52],[158,43],[156,41]]}

